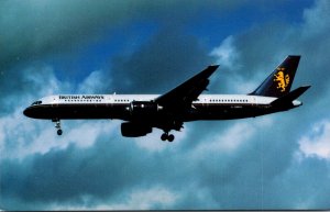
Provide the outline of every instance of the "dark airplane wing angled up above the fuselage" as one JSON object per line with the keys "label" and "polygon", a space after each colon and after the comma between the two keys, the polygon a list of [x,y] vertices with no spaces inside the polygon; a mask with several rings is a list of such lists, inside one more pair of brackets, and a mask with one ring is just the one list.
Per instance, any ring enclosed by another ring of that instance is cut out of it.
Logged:
{"label": "dark airplane wing angled up above the fuselage", "polygon": [[204,90],[207,90],[209,77],[218,67],[218,65],[207,67],[175,89],[155,99],[155,102],[169,110],[190,108],[193,101],[197,100]]}

